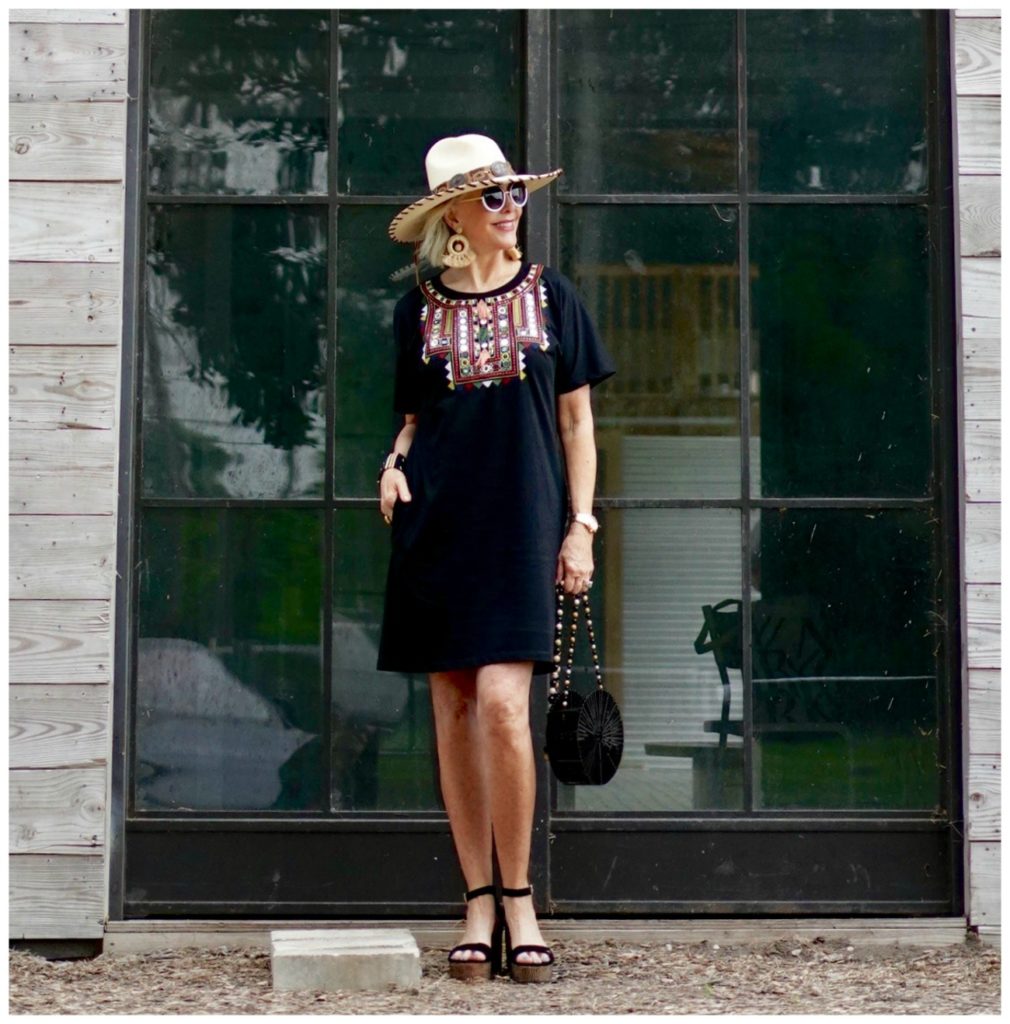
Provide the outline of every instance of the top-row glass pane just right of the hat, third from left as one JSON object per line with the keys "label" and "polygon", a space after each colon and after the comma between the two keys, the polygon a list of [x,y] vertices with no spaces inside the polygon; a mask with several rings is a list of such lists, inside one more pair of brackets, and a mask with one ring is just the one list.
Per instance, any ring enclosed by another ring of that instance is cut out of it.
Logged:
{"label": "top-row glass pane just right of the hat, third from left", "polygon": [[731,10],[557,14],[561,191],[721,191],[737,181]]}

